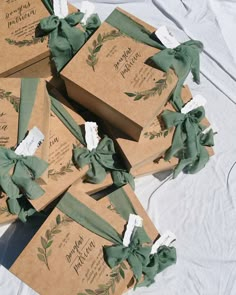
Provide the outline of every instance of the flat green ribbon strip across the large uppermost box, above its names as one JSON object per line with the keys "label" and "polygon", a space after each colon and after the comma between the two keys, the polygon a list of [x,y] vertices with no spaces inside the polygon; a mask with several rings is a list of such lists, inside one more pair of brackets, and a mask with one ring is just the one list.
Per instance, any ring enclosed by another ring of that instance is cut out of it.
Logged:
{"label": "flat green ribbon strip across the large uppermost box, above its names", "polygon": [[152,32],[149,32],[142,25],[138,24],[136,21],[131,19],[129,16],[123,14],[121,11],[115,9],[105,20],[106,23],[118,29],[125,35],[139,41],[141,43],[147,44],[149,46],[165,49],[166,47],[157,40],[151,38]]}

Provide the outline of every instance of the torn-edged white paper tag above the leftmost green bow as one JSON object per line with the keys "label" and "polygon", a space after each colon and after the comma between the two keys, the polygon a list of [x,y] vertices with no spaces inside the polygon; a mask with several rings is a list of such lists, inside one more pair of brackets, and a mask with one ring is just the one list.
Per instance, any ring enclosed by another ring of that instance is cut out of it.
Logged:
{"label": "torn-edged white paper tag above the leftmost green bow", "polygon": [[15,153],[22,156],[33,156],[43,141],[43,133],[37,127],[34,127],[15,149]]}

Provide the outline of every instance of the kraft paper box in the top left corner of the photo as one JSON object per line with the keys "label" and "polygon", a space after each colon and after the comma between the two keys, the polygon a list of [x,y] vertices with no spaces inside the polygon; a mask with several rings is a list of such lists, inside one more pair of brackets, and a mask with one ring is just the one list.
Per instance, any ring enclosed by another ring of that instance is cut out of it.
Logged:
{"label": "kraft paper box in the top left corner of the photo", "polygon": [[35,37],[40,20],[49,15],[41,0],[1,0],[0,77],[51,75],[48,37]]}

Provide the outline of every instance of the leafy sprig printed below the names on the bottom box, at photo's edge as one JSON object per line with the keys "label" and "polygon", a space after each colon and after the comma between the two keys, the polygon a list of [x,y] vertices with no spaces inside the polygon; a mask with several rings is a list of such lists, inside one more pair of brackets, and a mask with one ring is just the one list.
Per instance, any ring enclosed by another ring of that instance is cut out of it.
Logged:
{"label": "leafy sprig printed below the names on the bottom box, at photo's edge", "polygon": [[126,265],[122,262],[119,266],[113,268],[110,273],[110,278],[106,284],[98,285],[96,290],[85,289],[84,293],[78,293],[77,295],[111,295],[115,293],[116,284],[120,282],[121,279],[125,278],[125,270],[127,270]]}

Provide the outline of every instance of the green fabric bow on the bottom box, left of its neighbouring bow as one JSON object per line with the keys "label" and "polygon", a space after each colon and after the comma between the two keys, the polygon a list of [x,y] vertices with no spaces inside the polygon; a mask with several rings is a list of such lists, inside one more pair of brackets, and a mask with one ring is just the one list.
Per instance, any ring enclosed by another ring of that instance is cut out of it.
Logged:
{"label": "green fabric bow on the bottom box, left of its neighbouring bow", "polygon": [[149,263],[150,252],[150,246],[142,245],[138,230],[128,247],[125,247],[123,244],[103,247],[104,259],[107,264],[111,268],[114,268],[121,262],[127,260],[137,281],[141,279],[143,268]]}

